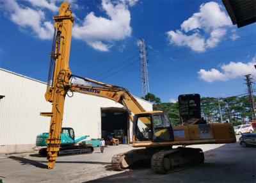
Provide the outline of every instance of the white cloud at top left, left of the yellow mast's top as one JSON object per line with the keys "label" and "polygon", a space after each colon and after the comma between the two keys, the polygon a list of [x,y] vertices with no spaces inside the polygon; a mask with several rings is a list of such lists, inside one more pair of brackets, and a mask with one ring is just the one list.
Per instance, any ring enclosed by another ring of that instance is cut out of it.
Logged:
{"label": "white cloud at top left, left of the yellow mast's top", "polygon": [[3,1],[4,10],[10,13],[10,19],[21,28],[30,28],[40,39],[51,39],[54,26],[44,21],[45,13],[41,10],[20,6],[16,1]]}

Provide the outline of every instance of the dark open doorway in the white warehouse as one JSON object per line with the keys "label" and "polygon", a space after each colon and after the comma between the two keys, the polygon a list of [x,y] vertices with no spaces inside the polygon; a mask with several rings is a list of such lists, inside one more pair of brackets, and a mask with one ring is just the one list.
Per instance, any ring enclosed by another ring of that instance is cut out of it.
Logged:
{"label": "dark open doorway in the white warehouse", "polygon": [[129,139],[129,115],[124,108],[101,108],[101,136],[106,143],[111,138],[118,139],[119,143],[127,143]]}

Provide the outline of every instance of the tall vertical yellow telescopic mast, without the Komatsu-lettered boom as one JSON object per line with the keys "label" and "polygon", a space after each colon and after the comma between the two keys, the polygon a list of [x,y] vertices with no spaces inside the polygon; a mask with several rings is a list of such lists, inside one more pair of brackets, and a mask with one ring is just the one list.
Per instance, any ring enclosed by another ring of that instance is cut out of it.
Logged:
{"label": "tall vertical yellow telescopic mast, without the Komatsu-lettered boom", "polygon": [[54,21],[51,63],[45,93],[45,99],[52,103],[52,111],[51,113],[41,113],[42,116],[51,116],[49,138],[47,139],[49,169],[54,167],[60,150],[64,100],[71,77],[68,62],[74,18],[67,2],[61,4],[59,15],[54,17]]}

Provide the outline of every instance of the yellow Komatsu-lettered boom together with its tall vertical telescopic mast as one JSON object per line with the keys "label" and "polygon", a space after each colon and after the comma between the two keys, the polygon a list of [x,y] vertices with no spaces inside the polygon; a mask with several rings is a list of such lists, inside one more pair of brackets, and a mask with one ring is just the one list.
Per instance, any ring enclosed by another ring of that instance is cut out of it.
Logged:
{"label": "yellow Komatsu-lettered boom together with its tall vertical telescopic mast", "polygon": [[120,86],[101,83],[83,77],[79,78],[99,86],[72,84],[72,73],[68,63],[74,18],[72,17],[70,5],[67,2],[61,4],[59,15],[54,17],[54,21],[55,31],[52,42],[51,63],[49,67],[47,91],[45,92],[45,99],[52,103],[52,111],[51,113],[40,113],[42,116],[51,116],[49,138],[47,139],[49,169],[54,168],[60,150],[63,110],[65,96],[68,91],[114,100],[125,106],[131,121],[135,113],[145,111],[131,93]]}

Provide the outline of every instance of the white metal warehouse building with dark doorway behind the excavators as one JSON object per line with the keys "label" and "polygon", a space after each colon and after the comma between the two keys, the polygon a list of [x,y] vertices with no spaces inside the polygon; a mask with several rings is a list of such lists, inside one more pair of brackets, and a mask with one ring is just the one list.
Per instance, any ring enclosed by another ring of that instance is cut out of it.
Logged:
{"label": "white metal warehouse building with dark doorway behind the excavators", "polygon": [[[51,103],[44,98],[47,85],[0,68],[0,154],[31,151],[36,136],[49,131]],[[146,111],[152,104],[136,97]],[[63,127],[72,127],[76,138],[102,138],[108,132],[124,130],[130,141],[132,125],[124,106],[92,95],[74,93],[65,98]]]}

